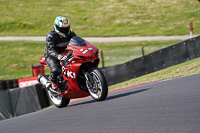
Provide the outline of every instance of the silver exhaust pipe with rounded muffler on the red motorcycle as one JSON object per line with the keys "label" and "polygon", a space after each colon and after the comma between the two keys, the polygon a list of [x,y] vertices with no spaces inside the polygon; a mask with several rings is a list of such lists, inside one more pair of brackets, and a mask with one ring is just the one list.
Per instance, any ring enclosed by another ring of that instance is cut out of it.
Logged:
{"label": "silver exhaust pipe with rounded muffler on the red motorcycle", "polygon": [[39,83],[44,85],[47,89],[49,89],[51,92],[56,93],[56,94],[60,94],[59,92],[57,92],[57,91],[55,91],[51,88],[51,83],[42,74],[38,75],[37,80],[38,80]]}

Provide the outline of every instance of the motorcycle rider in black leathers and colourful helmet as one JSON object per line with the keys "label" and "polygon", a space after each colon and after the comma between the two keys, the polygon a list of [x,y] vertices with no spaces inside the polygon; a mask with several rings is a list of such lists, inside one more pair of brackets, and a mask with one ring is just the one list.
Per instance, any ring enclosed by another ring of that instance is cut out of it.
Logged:
{"label": "motorcycle rider in black leathers and colourful helmet", "polygon": [[57,16],[52,30],[46,35],[45,60],[50,67],[50,81],[53,89],[58,89],[57,77],[61,75],[60,61],[67,61],[67,56],[62,56],[75,32],[70,29],[69,20]]}

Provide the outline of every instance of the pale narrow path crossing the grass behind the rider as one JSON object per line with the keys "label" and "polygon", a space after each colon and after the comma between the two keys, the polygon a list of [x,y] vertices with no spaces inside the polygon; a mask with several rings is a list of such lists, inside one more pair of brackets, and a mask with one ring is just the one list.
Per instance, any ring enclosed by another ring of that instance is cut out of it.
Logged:
{"label": "pale narrow path crossing the grass behind the rider", "polygon": [[[196,37],[194,35],[193,37]],[[83,37],[89,42],[130,42],[130,41],[161,41],[161,40],[186,40],[190,36],[145,36],[145,37]],[[4,36],[0,41],[46,41],[45,36]]]}

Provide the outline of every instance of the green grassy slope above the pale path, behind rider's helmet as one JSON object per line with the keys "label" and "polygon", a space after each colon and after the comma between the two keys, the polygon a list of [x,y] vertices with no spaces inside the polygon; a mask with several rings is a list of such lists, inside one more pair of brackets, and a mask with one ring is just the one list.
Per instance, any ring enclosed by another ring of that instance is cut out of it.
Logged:
{"label": "green grassy slope above the pale path, behind rider's helmet", "polygon": [[1,0],[0,36],[44,36],[56,16],[80,36],[199,34],[197,0]]}

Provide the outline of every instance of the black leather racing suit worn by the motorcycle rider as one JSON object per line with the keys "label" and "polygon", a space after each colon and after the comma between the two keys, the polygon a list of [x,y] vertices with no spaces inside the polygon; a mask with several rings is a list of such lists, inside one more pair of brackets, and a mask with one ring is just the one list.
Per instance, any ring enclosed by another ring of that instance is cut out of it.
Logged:
{"label": "black leather racing suit worn by the motorcycle rider", "polygon": [[60,36],[53,28],[46,36],[45,60],[51,69],[50,78],[56,80],[61,74],[60,61],[58,55],[64,52],[72,37],[76,36],[74,31],[70,30],[67,37]]}

